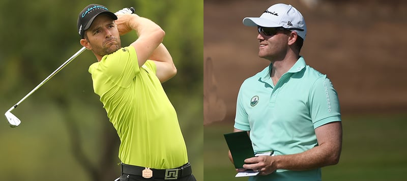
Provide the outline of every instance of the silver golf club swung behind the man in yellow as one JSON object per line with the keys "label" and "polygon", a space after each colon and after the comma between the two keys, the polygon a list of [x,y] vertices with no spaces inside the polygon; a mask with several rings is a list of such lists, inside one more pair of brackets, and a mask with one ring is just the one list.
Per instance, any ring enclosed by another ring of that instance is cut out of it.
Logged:
{"label": "silver golf club swung behind the man in yellow", "polygon": [[[122,10],[119,10],[115,14],[132,14],[135,12],[135,9],[133,7],[131,8],[124,8]],[[73,54],[68,60],[62,64],[59,68],[57,68],[55,71],[53,71],[47,78],[45,78],[40,84],[38,84],[33,90],[31,90],[30,93],[25,95],[20,101],[18,101],[14,106],[12,106],[4,115],[6,116],[7,120],[9,121],[10,127],[15,128],[18,125],[20,125],[21,120],[15,116],[14,114],[11,113],[13,109],[15,109],[21,102],[23,102],[28,96],[31,96],[38,88],[40,88],[42,85],[44,85],[45,82],[47,82],[50,78],[52,78],[56,73],[58,73],[61,69],[63,69],[66,65],[68,65],[73,59],[75,59],[80,53],[82,53],[86,48],[82,47],[79,51],[77,51],[75,54]]]}

